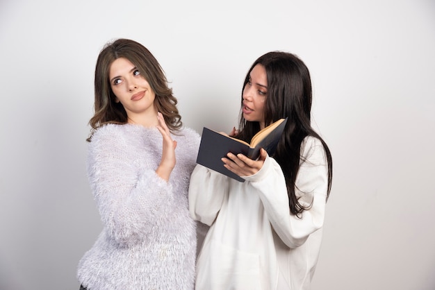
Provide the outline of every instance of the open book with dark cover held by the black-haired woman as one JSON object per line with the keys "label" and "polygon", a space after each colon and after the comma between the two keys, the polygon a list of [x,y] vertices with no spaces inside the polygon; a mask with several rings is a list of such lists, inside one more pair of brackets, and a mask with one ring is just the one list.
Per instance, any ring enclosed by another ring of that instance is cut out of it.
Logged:
{"label": "open book with dark cover held by the black-haired woman", "polygon": [[268,152],[268,155],[272,155],[281,139],[286,123],[287,118],[279,119],[263,128],[263,130],[260,130],[252,137],[250,144],[204,127],[202,130],[201,144],[199,145],[197,163],[229,176],[230,178],[244,182],[245,180],[243,178],[240,178],[240,176],[224,167],[224,162],[222,162],[221,158],[227,157],[227,153],[231,152],[235,155],[242,153],[252,160],[256,160],[260,155],[261,148],[264,148],[265,151]]}

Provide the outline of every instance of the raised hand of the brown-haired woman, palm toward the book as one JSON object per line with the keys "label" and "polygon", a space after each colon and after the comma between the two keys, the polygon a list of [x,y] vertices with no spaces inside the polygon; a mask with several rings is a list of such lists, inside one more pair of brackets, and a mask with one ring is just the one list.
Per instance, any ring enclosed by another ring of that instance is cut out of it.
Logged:
{"label": "raised hand of the brown-haired woman, palm toward the book", "polygon": [[165,119],[161,112],[157,113],[158,125],[157,129],[163,136],[163,151],[162,160],[156,169],[158,176],[164,180],[169,180],[172,169],[175,167],[177,160],[175,159],[175,148],[177,147],[177,141],[172,140],[170,130],[167,128]]}

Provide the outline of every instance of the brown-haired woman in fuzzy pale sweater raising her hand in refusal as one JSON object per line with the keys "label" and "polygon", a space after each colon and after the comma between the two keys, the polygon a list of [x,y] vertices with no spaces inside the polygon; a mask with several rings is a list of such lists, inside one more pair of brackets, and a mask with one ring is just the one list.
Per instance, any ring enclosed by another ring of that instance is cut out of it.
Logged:
{"label": "brown-haired woman in fuzzy pale sweater raising her hand in refusal", "polygon": [[142,44],[115,40],[99,53],[90,126],[88,178],[104,229],[79,262],[81,289],[192,289],[187,194],[199,135],[183,127]]}

